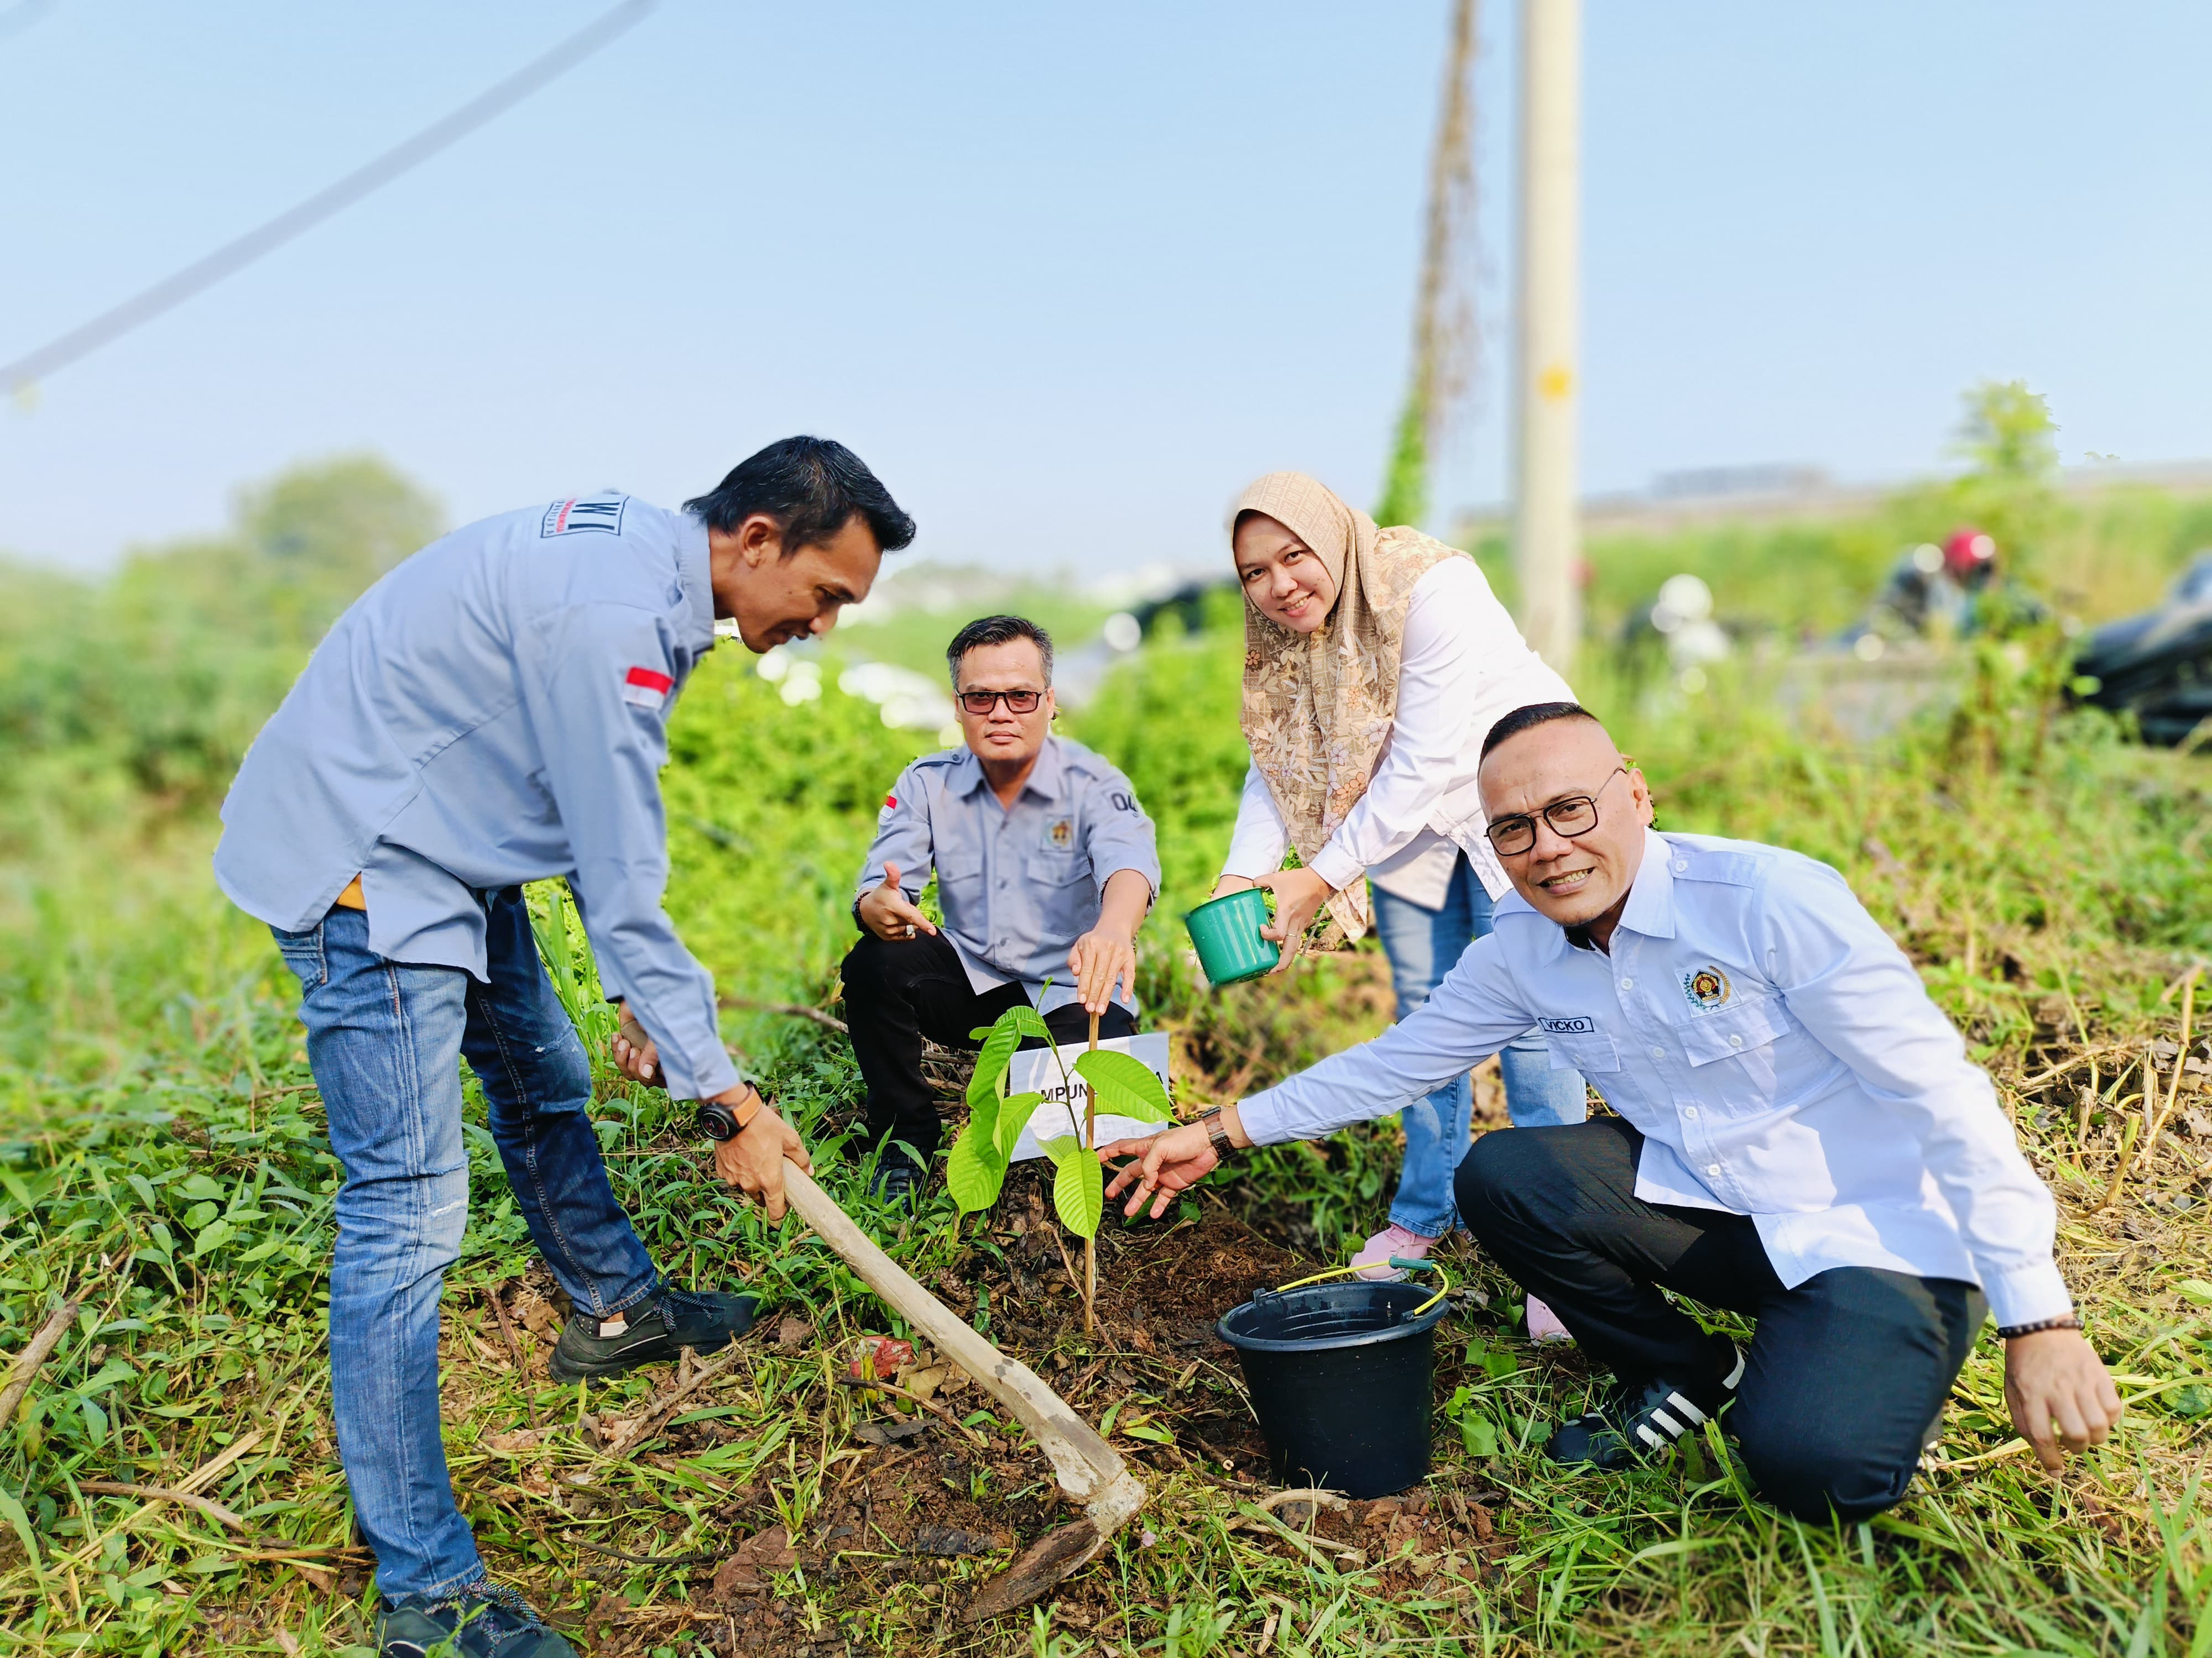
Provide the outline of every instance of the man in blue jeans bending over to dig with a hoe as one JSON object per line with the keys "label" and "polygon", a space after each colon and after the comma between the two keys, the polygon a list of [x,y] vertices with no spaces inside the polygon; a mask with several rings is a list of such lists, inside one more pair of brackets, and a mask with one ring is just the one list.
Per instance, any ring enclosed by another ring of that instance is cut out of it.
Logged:
{"label": "man in blue jeans bending over to dig with a hoe", "polygon": [[469,1218],[460,1061],[573,1313],[564,1382],[728,1346],[752,1300],[661,1278],[593,1134],[591,1059],[522,882],[564,875],[622,1001],[617,1063],[714,1101],[721,1178],[783,1214],[799,1136],[730,1066],[714,979],[661,909],[668,710],[730,617],[748,650],[823,634],[914,520],[843,444],[785,438],[681,513],[599,493],[453,531],[338,617],[261,727],[215,878],[301,984],[345,1167],[330,1269],[338,1459],[376,1550],[376,1643],[471,1658],[571,1645],[491,1583],[438,1430],[438,1298]]}

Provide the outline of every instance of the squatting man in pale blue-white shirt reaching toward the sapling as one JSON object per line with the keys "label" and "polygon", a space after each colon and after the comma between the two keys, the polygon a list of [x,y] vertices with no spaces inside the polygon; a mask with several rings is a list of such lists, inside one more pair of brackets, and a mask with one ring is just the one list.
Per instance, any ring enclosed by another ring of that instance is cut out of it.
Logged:
{"label": "squatting man in pale blue-white shirt reaching toward the sapling", "polygon": [[[1460,1216],[1619,1393],[1559,1463],[1621,1468],[1719,1415],[1761,1494],[1863,1519],[1911,1483],[1982,1318],[2046,1468],[2119,1419],[2051,1258],[2053,1203],[1920,975],[1827,864],[1657,833],[1644,776],[1573,703],[1491,730],[1498,931],[1429,1001],[1279,1088],[1152,1141],[1128,1209],[1237,1145],[1385,1116],[1531,1026],[1619,1116],[1484,1134]],[[1212,1119],[1212,1121],[1208,1121]],[[1750,1353],[1672,1289],[1756,1318]],[[2057,1426],[2057,1435],[2053,1435]]]}

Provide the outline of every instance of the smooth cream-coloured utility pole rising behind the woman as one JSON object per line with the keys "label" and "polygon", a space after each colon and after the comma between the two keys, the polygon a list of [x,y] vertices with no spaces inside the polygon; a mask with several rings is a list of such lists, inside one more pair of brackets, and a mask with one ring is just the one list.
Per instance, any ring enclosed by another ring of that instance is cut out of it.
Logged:
{"label": "smooth cream-coloured utility pole rising behind the woman", "polygon": [[1520,329],[1513,566],[1522,634],[1555,670],[1575,661],[1575,413],[1582,398],[1582,0],[1522,0]]}

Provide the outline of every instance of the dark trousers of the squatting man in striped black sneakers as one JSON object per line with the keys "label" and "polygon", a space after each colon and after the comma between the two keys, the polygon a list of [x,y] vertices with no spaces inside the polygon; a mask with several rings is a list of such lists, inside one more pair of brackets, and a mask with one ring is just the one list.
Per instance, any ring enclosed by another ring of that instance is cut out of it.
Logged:
{"label": "dark trousers of the squatting man in striped black sneakers", "polygon": [[1455,1196],[1491,1258],[1626,1382],[1708,1375],[1714,1340],[1672,1289],[1756,1318],[1725,1426],[1759,1494],[1807,1521],[1905,1497],[1989,1304],[1973,1284],[1834,1267],[1783,1289],[1750,1218],[1637,1198],[1617,1116],[1484,1134]]}

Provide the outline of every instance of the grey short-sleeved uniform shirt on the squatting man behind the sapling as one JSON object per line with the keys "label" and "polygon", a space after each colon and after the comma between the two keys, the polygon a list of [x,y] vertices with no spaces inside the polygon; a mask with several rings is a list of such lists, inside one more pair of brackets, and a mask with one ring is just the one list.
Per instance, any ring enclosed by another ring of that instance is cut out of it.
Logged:
{"label": "grey short-sleeved uniform shirt on the squatting man behind the sapling", "polygon": [[[1137,791],[1064,736],[1044,738],[1013,807],[998,802],[971,749],[909,765],[876,816],[856,900],[883,884],[885,864],[898,864],[907,898],[936,869],[945,937],[969,984],[1020,979],[1040,1012],[1075,999],[1068,946],[1097,926],[1115,871],[1135,869],[1159,891],[1159,847]],[[1040,990],[1046,979],[1051,990]],[[1119,999],[1137,1008],[1128,986]]]}

